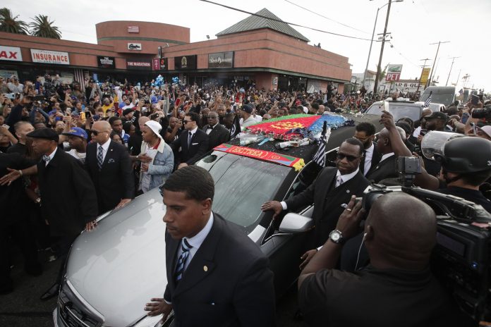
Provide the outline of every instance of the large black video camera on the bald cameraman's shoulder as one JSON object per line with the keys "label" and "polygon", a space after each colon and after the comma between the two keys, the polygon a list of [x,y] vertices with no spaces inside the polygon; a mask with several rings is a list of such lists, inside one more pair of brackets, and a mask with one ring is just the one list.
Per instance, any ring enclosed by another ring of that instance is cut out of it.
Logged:
{"label": "large black video camera on the bald cameraman's shoulder", "polygon": [[491,214],[478,204],[452,195],[420,187],[378,184],[363,192],[363,208],[370,210],[375,199],[389,192],[406,192],[432,207],[437,216],[437,244],[430,259],[432,273],[476,325],[478,321],[490,321],[491,231],[482,226],[489,226]]}

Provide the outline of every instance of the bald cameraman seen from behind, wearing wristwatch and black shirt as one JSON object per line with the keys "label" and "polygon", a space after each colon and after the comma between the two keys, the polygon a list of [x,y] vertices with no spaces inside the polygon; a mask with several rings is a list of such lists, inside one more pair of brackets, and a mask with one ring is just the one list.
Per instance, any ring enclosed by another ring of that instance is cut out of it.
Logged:
{"label": "bald cameraman seen from behind, wearing wristwatch and black shirt", "polygon": [[365,223],[370,265],[334,269],[344,241],[358,233],[364,212],[352,197],[324,247],[298,278],[298,302],[311,326],[463,326],[432,276],[435,213],[403,192],[382,195]]}

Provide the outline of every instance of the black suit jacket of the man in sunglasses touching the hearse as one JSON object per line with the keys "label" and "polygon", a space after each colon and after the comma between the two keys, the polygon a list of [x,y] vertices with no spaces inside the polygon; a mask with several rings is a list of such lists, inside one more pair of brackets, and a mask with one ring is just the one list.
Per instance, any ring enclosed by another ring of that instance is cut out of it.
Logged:
{"label": "black suit jacket of the man in sunglasses touching the hearse", "polygon": [[348,204],[351,195],[359,197],[370,185],[370,182],[358,171],[351,180],[335,187],[336,173],[337,168],[323,168],[306,190],[285,201],[289,210],[314,204],[312,215],[315,221],[314,244],[312,245],[314,247],[323,245],[329,237],[329,233],[336,227],[338,218],[344,211],[341,204]]}

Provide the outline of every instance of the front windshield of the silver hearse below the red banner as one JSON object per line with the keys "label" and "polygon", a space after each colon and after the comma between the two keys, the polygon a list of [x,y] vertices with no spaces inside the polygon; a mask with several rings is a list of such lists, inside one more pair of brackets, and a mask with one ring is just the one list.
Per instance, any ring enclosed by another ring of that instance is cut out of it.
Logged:
{"label": "front windshield of the silver hearse below the red banner", "polygon": [[261,204],[272,199],[291,169],[235,154],[222,156],[210,168],[215,182],[213,211],[243,228],[255,227]]}

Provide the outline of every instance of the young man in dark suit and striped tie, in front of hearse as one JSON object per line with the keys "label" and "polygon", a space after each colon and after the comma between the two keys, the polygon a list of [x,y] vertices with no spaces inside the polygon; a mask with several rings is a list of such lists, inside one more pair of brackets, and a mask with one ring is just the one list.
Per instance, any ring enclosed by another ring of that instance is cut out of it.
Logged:
{"label": "young man in dark suit and striped tie, in front of hearse", "polygon": [[212,212],[214,181],[198,166],[161,187],[166,213],[167,286],[145,305],[149,316],[174,309],[174,326],[273,326],[274,286],[257,245]]}

